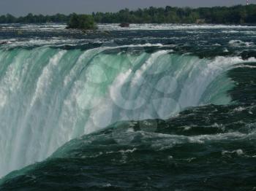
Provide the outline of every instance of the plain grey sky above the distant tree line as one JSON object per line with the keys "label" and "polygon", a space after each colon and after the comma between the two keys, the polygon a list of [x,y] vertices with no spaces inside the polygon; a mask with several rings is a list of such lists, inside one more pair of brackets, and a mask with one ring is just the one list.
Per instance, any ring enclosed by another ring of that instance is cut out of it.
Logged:
{"label": "plain grey sky above the distant tree line", "polygon": [[[256,4],[256,0],[249,0]],[[54,15],[91,12],[117,12],[120,9],[144,7],[213,7],[246,4],[246,0],[0,0],[0,15]]]}

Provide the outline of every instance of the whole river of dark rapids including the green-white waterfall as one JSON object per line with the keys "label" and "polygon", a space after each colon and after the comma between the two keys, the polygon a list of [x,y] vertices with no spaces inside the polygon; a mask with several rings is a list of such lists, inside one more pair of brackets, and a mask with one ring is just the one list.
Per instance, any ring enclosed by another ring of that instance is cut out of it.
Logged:
{"label": "whole river of dark rapids including the green-white waterfall", "polygon": [[256,190],[256,27],[1,25],[0,190]]}

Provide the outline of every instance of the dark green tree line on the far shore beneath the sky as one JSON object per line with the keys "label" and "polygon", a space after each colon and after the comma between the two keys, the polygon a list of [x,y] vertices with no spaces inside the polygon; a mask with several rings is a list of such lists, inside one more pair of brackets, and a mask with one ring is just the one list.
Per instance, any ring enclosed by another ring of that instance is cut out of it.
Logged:
{"label": "dark green tree line on the far shore beneath the sky", "polygon": [[[10,14],[0,16],[0,23],[69,23],[72,15],[33,15],[14,17]],[[255,24],[256,4],[233,7],[149,7],[121,9],[119,12],[93,12],[95,23],[212,23],[212,24]]]}

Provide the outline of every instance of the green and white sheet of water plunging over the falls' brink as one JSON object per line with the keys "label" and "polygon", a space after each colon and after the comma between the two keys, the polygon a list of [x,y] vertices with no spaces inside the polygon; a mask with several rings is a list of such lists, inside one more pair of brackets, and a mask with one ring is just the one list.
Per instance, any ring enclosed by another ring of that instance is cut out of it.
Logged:
{"label": "green and white sheet of water plunging over the falls' brink", "polygon": [[225,71],[241,62],[118,47],[1,49],[0,176],[113,122],[167,119],[189,106],[228,103],[233,82]]}

